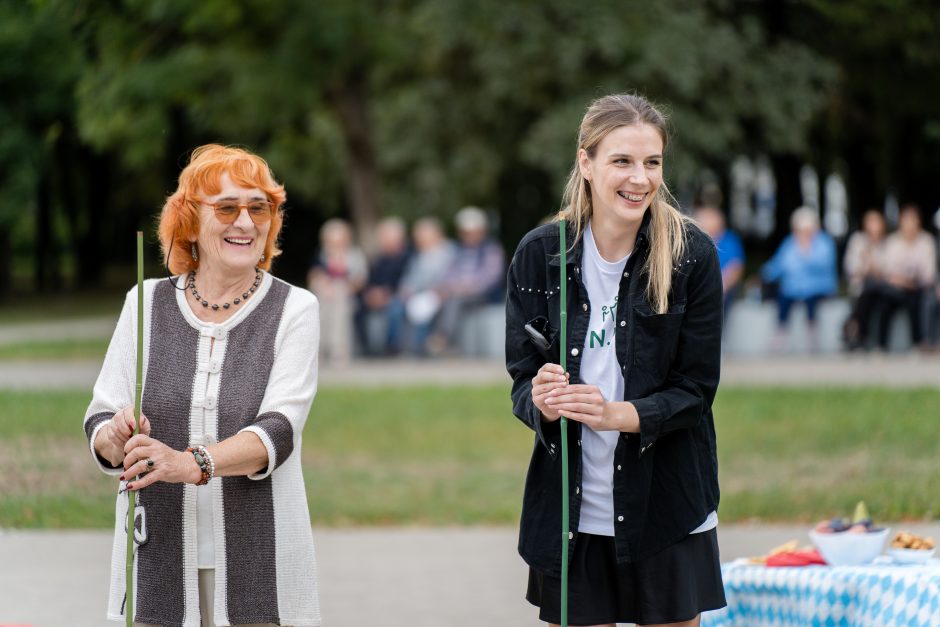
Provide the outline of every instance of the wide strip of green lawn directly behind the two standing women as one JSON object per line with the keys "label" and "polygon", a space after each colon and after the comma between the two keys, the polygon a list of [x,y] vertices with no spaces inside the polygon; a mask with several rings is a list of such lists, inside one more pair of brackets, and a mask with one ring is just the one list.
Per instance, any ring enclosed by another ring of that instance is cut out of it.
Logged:
{"label": "wide strip of green lawn directly behind the two standing women", "polygon": [[[322,389],[304,432],[315,524],[514,524],[532,446],[507,386]],[[0,527],[109,527],[90,392],[0,392]],[[809,522],[866,500],[940,515],[940,390],[723,388],[723,521]]]}

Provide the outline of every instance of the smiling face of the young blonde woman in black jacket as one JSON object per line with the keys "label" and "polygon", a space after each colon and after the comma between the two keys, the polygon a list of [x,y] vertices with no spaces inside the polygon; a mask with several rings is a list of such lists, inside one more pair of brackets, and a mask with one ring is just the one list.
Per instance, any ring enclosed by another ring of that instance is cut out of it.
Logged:
{"label": "smiling face of the young blonde woman in black jacket", "polygon": [[635,227],[663,183],[663,138],[649,124],[620,126],[597,144],[593,157],[581,149],[578,165],[591,185],[594,216]]}

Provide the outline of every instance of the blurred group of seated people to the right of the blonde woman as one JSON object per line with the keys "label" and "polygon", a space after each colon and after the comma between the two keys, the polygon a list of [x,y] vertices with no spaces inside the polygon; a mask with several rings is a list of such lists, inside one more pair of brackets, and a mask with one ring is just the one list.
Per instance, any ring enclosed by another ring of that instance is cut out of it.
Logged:
{"label": "blurred group of seated people to the right of the blonde woman", "polygon": [[[839,247],[820,226],[819,212],[800,207],[790,216],[790,234],[760,267],[759,276],[744,277],[744,247],[714,207],[700,207],[695,217],[715,240],[725,287],[725,316],[739,291],[750,284],[763,300],[776,304],[772,351],[789,348],[794,306],[805,307],[808,349],[818,349],[819,304],[839,293]],[[851,311],[842,325],[845,350],[889,349],[896,315],[907,317],[910,346],[922,352],[940,347],[940,281],[937,239],[923,226],[920,207],[900,208],[897,228],[889,232],[884,214],[865,212],[861,228],[850,235],[842,269]]]}

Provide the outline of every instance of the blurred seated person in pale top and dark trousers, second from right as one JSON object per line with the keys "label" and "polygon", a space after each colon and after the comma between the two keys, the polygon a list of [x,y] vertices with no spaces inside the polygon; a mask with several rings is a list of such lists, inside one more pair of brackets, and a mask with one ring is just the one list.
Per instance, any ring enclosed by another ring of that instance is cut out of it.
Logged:
{"label": "blurred seated person in pale top and dark trousers, second from right", "polygon": [[877,209],[869,209],[862,217],[862,229],[852,233],[845,248],[842,267],[849,284],[849,296],[855,299],[843,328],[849,350],[868,344],[873,308],[884,281],[886,232],[884,216]]}

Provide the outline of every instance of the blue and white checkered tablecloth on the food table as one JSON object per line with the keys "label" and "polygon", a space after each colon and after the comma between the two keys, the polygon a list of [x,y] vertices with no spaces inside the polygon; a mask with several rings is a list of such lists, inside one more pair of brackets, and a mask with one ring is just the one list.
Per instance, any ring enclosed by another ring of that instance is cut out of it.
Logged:
{"label": "blue and white checkered tablecloth on the food table", "polygon": [[940,566],[724,564],[728,606],[703,627],[940,627]]}

